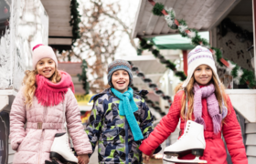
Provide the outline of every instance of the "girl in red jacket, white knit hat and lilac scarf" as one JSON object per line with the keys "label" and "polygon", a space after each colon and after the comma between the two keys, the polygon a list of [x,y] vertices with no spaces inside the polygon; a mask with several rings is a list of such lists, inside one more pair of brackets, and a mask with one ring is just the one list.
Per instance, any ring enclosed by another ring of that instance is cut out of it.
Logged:
{"label": "girl in red jacket, white knit hat and lilac scarf", "polygon": [[[154,150],[175,131],[180,119],[181,136],[187,120],[203,125],[206,147],[200,159],[207,160],[208,164],[228,164],[222,132],[233,164],[247,164],[240,124],[219,81],[211,52],[197,46],[188,54],[187,64],[187,79],[176,87],[176,96],[168,114],[139,148],[143,158],[149,159]],[[179,159],[195,159],[195,156],[185,154]]]}

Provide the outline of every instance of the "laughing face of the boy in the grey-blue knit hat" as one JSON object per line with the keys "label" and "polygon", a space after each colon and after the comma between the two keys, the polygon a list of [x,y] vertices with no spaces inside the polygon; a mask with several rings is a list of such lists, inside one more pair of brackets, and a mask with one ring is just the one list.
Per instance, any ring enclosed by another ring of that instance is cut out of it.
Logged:
{"label": "laughing face of the boy in the grey-blue knit hat", "polygon": [[130,77],[127,71],[117,70],[112,73],[112,86],[121,93],[127,91]]}

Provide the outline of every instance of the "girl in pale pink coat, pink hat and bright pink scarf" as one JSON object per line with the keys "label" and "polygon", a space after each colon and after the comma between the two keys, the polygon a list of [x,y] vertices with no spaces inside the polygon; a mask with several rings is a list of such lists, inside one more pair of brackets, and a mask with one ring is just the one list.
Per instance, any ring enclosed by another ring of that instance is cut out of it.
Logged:
{"label": "girl in pale pink coat, pink hat and bright pink scarf", "polygon": [[[56,133],[65,121],[80,164],[89,162],[91,143],[80,121],[80,108],[71,77],[59,71],[50,46],[33,48],[33,71],[27,70],[10,113],[10,140],[16,150],[13,164],[45,164]],[[71,87],[71,89],[70,89]],[[60,145],[59,145],[60,146]]]}

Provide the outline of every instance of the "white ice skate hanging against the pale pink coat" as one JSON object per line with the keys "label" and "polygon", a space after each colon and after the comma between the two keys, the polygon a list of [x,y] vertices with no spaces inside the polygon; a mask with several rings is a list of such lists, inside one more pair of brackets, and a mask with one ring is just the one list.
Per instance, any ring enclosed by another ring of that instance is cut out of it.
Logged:
{"label": "white ice skate hanging against the pale pink coat", "polygon": [[69,148],[69,137],[66,132],[55,135],[49,157],[53,160],[59,160],[64,164],[78,163],[78,159]]}

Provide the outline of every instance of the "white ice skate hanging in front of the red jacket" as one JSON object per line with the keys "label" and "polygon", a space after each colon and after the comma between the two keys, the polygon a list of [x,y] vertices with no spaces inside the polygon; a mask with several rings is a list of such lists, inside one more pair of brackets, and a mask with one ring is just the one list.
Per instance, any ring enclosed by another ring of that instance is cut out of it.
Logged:
{"label": "white ice skate hanging in front of the red jacket", "polygon": [[[182,137],[165,148],[163,159],[174,163],[207,163],[206,160],[199,159],[204,154],[204,149],[206,149],[204,126],[188,120]],[[196,156],[195,159],[177,159],[179,155],[190,152]]]}

